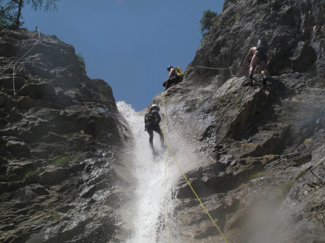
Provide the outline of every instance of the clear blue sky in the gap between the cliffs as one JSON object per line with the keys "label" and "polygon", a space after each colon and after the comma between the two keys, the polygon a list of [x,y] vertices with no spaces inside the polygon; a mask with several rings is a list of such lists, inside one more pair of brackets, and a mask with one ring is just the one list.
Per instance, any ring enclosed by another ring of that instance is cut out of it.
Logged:
{"label": "clear blue sky in the gap between the cliffs", "polygon": [[164,91],[167,66],[183,70],[200,46],[203,11],[222,11],[218,0],[61,0],[57,12],[22,16],[28,30],[55,34],[85,58],[87,75],[102,78],[116,101],[139,111]]}

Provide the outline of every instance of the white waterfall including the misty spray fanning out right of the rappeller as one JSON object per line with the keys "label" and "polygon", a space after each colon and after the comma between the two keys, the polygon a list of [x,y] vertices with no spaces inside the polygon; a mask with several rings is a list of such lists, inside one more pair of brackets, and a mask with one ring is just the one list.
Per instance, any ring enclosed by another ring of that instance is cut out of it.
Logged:
{"label": "white waterfall including the misty spray fanning out right of the rappeller", "polygon": [[[133,198],[133,201],[126,210],[127,212],[124,212],[127,214],[124,215],[125,221],[132,221],[128,222],[130,225],[128,228],[132,228],[133,233],[125,243],[181,242],[177,222],[173,218],[173,205],[177,199],[172,197],[175,195],[173,193],[176,191],[175,185],[183,177],[175,159],[169,149],[166,152],[165,148],[160,148],[157,133],[154,133],[153,145],[158,155],[153,155],[149,145],[149,135],[144,131],[143,114],[138,114],[131,105],[123,101],[117,102],[117,107],[134,135],[134,141],[130,144],[130,151],[128,151],[132,154],[129,169],[134,182],[134,191],[129,196]],[[173,109],[179,110],[178,107]],[[161,109],[159,113],[163,118],[164,109]],[[186,116],[185,113],[183,115]],[[172,118],[168,118],[170,124],[173,123]],[[194,147],[197,145],[189,145],[182,138],[182,134],[192,134],[189,121],[190,119],[186,120],[187,128],[179,124],[176,126],[178,129],[172,132],[168,131],[164,120],[160,123],[168,144],[184,173],[203,163],[202,157],[194,152]],[[202,119],[200,122],[202,123]],[[169,227],[167,227],[167,222]]]}

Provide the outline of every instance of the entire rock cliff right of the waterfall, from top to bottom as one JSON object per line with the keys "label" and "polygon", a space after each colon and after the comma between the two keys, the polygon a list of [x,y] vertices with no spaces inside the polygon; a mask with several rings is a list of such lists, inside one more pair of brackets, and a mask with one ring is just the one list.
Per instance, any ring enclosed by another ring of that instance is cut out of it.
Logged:
{"label": "entire rock cliff right of the waterfall, from top to bottom", "polygon": [[[325,242],[324,11],[324,1],[226,0],[182,83],[154,97],[206,160],[186,176],[228,242]],[[244,87],[258,38],[270,76]],[[183,242],[224,242],[183,179],[177,198]]]}

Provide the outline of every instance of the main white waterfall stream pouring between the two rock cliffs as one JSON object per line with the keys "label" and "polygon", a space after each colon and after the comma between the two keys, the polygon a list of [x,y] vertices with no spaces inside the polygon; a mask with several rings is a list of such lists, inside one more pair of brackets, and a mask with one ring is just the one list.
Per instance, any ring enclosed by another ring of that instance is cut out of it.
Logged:
{"label": "main white waterfall stream pouring between the two rock cliffs", "polygon": [[130,145],[132,151],[129,151],[133,157],[133,161],[129,161],[129,166],[134,181],[134,194],[131,195],[133,203],[126,217],[132,221],[128,223],[131,223],[133,232],[125,243],[169,242],[169,237],[175,242],[177,233],[173,230],[175,222],[172,219],[172,190],[180,173],[171,154],[165,154],[165,149],[160,148],[159,135],[155,132],[153,145],[158,154],[153,155],[149,135],[144,131],[144,116],[139,115],[131,105],[124,102],[117,102],[117,106],[134,135],[134,142]]}

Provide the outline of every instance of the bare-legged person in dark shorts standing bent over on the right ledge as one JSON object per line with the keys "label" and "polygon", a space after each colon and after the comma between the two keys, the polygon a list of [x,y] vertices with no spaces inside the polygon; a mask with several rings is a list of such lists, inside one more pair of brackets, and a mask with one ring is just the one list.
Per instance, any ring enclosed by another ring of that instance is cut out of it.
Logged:
{"label": "bare-legged person in dark shorts standing bent over on the right ledge", "polygon": [[256,47],[252,47],[251,49],[249,49],[242,68],[242,70],[245,71],[246,65],[247,63],[249,63],[249,71],[248,71],[249,81],[246,82],[244,86],[253,84],[253,74],[257,64],[259,65],[259,73],[261,73],[263,77],[262,82],[263,84],[266,83],[267,76],[265,73],[265,67],[268,61],[270,60],[270,57],[267,54],[268,51],[269,51],[268,44],[266,41],[262,39],[258,40]]}

